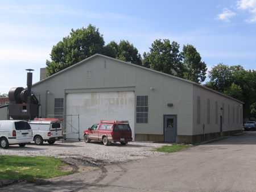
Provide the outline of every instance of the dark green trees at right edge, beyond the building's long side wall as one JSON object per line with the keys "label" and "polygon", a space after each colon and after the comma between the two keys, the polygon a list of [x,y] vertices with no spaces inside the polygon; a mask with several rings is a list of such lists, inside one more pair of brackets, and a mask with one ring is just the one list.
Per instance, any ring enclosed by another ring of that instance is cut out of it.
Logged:
{"label": "dark green trees at right edge, beyond the building's long side wall", "polygon": [[245,70],[241,65],[218,64],[209,72],[210,81],[205,86],[238,99],[243,105],[243,118],[255,118],[256,71]]}

